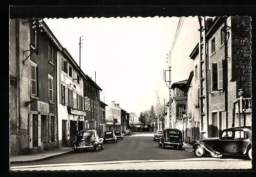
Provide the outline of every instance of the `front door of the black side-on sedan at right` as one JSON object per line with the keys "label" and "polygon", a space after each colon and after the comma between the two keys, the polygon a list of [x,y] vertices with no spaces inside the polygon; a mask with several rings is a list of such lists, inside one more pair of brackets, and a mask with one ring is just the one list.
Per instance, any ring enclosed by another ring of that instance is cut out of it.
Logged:
{"label": "front door of the black side-on sedan at right", "polygon": [[219,150],[222,154],[233,153],[233,132],[224,131],[220,137]]}

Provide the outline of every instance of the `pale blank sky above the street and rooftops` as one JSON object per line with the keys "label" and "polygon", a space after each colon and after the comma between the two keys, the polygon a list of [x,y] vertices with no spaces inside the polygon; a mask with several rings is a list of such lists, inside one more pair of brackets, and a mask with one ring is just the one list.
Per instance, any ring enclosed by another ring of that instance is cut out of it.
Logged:
{"label": "pale blank sky above the street and rooftops", "polygon": [[[167,100],[169,89],[163,80],[166,54],[172,46],[179,17],[111,17],[44,19],[61,45],[79,65],[79,37],[82,37],[81,69],[102,89],[100,99],[120,104],[127,112],[149,110]],[[197,17],[185,17],[172,53],[172,83],[186,80],[193,70],[189,55],[199,41]]]}

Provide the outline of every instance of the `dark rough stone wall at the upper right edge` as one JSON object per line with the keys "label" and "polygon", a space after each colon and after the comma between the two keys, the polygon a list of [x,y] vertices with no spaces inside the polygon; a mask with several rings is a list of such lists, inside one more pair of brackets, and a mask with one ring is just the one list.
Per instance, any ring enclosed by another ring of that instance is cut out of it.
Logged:
{"label": "dark rough stone wall at the upper right edge", "polygon": [[232,79],[251,97],[251,18],[231,17]]}

